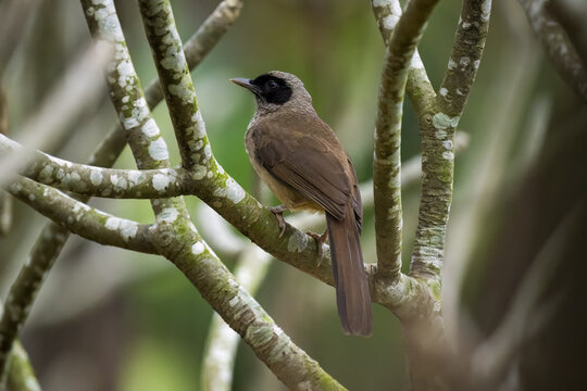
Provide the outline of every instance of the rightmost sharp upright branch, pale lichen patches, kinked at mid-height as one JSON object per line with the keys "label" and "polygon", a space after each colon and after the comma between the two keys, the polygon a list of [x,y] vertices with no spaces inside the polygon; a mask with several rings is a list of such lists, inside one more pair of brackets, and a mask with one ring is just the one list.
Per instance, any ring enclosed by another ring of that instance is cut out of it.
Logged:
{"label": "rightmost sharp upright branch, pale lichen patches, kinked at mid-height", "polygon": [[422,199],[410,275],[440,281],[452,202],[454,131],[485,47],[491,0],[464,0],[447,75],[435,108],[420,118]]}

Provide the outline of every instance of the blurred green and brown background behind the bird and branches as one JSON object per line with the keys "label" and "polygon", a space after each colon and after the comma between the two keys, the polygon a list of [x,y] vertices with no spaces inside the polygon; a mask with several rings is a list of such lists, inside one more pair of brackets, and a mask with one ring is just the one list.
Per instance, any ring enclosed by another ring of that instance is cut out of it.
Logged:
{"label": "blurred green and brown background behind the bird and branches", "polygon": [[[13,131],[89,42],[79,3],[37,3],[1,80]],[[186,40],[217,2],[172,4]],[[155,68],[137,5],[117,1],[116,7],[135,67],[147,85]],[[460,8],[460,1],[441,1],[420,46],[435,88],[446,71]],[[280,70],[305,83],[316,111],[351,155],[360,181],[369,180],[383,54],[369,1],[246,2],[240,18],[192,73],[216,159],[252,189],[243,134],[254,101],[228,79]],[[116,118],[105,88],[102,97],[46,151],[85,162]],[[154,114],[177,164],[164,104]],[[546,257],[548,272],[541,276],[547,277],[536,282],[540,299],[515,329],[528,340],[511,365],[516,365],[520,389],[570,389],[565,386],[578,381],[577,363],[582,357],[585,362],[587,338],[587,108],[545,58],[516,2],[494,4],[486,51],[460,130],[469,135],[469,144],[457,155],[445,270],[447,300],[461,325],[457,332],[474,333],[479,341],[499,329],[528,270]],[[402,156],[419,153],[417,123],[407,103]],[[128,149],[116,167],[135,167]],[[419,193],[415,181],[403,194],[404,265]],[[186,201],[205,234],[200,202]],[[153,218],[147,201],[97,199],[91,204],[141,223]],[[17,202],[13,213],[12,229],[0,239],[2,298],[46,223]],[[365,261],[375,262],[371,210],[365,211],[364,227]],[[234,252],[222,243],[214,250],[234,267]],[[385,308],[374,305],[371,339],[345,337],[334,290],[277,261],[258,300],[299,346],[349,389],[405,388],[401,327]],[[43,390],[197,390],[211,317],[209,305],[165,260],[72,237],[40,291],[22,340]],[[243,344],[234,376],[234,390],[285,389]]]}

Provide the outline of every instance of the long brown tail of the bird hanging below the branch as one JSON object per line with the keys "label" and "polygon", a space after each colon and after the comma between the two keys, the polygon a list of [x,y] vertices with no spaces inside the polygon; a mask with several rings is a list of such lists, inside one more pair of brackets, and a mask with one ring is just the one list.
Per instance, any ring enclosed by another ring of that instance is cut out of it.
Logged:
{"label": "long brown tail of the bird hanging below the branch", "polygon": [[373,324],[371,295],[351,204],[342,220],[326,213],[326,224],[336,283],[336,304],[342,330],[347,335],[369,337]]}

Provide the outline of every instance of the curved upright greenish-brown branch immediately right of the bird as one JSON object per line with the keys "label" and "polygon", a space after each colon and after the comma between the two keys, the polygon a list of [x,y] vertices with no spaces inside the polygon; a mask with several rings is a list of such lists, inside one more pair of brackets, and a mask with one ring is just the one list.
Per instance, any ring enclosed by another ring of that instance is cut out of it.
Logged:
{"label": "curved upright greenish-brown branch immediately right of the bird", "polygon": [[373,185],[378,275],[401,273],[401,115],[408,70],[437,0],[414,0],[400,17],[386,50],[375,124]]}

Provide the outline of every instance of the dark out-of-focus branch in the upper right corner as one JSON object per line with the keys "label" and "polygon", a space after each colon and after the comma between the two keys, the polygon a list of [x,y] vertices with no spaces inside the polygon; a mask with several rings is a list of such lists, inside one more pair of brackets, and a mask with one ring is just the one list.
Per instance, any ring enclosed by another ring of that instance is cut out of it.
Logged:
{"label": "dark out-of-focus branch in the upper right corner", "polygon": [[534,33],[566,84],[587,102],[587,70],[564,27],[548,9],[548,0],[519,0]]}

